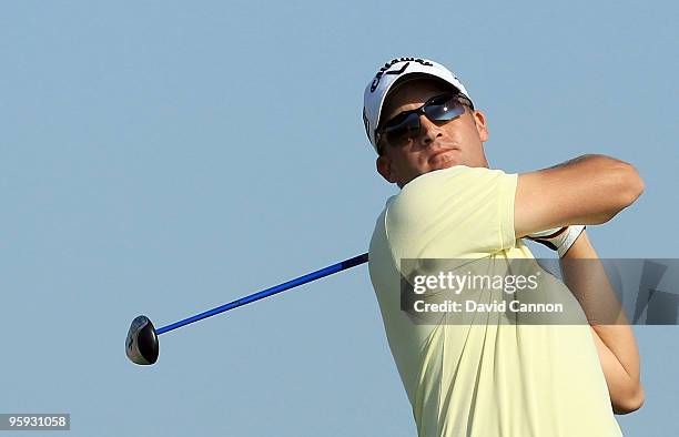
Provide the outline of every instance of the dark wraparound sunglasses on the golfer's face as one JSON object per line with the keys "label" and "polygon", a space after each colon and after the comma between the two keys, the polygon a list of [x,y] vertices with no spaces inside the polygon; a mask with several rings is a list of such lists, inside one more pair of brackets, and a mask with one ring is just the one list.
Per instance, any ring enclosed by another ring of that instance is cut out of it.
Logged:
{"label": "dark wraparound sunglasses on the golfer's face", "polygon": [[474,109],[472,102],[463,94],[436,95],[422,106],[404,111],[385,122],[375,132],[376,142],[379,144],[382,138],[385,138],[387,143],[395,148],[404,146],[419,134],[422,129],[419,115],[424,114],[432,123],[444,124],[464,114],[465,104]]}

